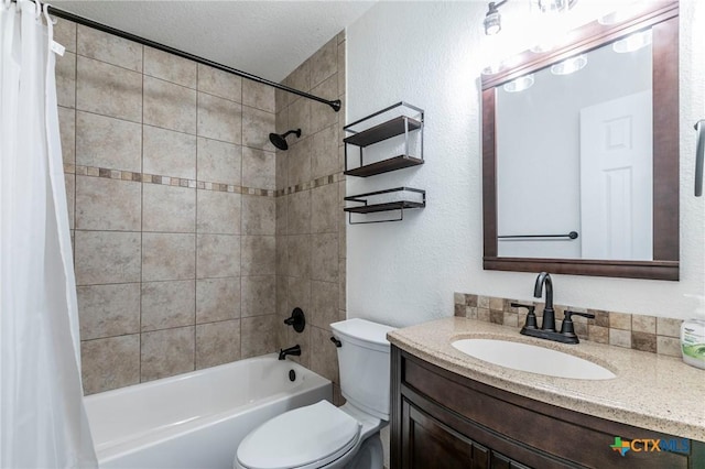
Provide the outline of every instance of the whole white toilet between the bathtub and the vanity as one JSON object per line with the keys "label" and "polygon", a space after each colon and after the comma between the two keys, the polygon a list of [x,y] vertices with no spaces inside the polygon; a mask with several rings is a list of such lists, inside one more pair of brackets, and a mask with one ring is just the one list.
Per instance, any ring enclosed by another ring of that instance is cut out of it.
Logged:
{"label": "whole white toilet between the bathtub and the vanity", "polygon": [[392,327],[365,319],[330,325],[340,341],[341,407],[328,401],[279,415],[253,429],[238,447],[236,469],[381,469],[379,430],[389,422]]}

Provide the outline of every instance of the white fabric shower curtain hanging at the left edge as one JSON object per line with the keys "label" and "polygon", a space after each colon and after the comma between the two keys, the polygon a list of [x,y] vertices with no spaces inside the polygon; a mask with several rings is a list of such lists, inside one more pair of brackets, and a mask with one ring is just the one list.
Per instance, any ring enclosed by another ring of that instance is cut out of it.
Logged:
{"label": "white fabric shower curtain hanging at the left edge", "polygon": [[97,467],[83,404],[52,25],[0,0],[0,467]]}

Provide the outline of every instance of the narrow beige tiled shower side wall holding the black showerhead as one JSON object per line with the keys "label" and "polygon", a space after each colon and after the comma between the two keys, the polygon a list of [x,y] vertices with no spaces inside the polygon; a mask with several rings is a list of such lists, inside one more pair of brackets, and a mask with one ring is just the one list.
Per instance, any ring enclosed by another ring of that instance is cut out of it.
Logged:
{"label": "narrow beige tiled shower side wall holding the black showerhead", "polygon": [[[345,34],[340,33],[299,66],[284,85],[345,107]],[[330,323],[345,319],[345,217],[343,126],[345,109],[276,91],[276,131],[290,135],[289,150],[276,151],[276,321],[278,343],[299,343],[305,367],[339,390]],[[294,307],[306,315],[302,334],[284,326]]]}

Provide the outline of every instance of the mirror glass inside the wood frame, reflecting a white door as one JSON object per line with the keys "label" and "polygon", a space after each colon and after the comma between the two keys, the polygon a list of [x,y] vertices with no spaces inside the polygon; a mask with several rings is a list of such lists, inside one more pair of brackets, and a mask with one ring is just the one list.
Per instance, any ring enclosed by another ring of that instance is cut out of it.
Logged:
{"label": "mirror glass inside the wood frame, reflecting a white door", "polygon": [[653,260],[651,31],[496,87],[499,257]]}

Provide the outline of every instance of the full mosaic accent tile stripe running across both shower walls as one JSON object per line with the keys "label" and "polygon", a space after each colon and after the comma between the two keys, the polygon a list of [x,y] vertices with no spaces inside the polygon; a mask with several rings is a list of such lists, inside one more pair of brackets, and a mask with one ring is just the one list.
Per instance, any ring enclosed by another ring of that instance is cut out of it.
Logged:
{"label": "full mosaic accent tile stripe running across both shower walls", "polygon": [[74,164],[64,164],[64,173],[76,174],[79,176],[106,177],[109,179],[134,181],[148,184],[161,184],[165,186],[178,186],[198,188],[203,190],[215,190],[221,193],[235,193],[245,195],[254,195],[263,197],[282,197],[288,194],[295,194],[303,190],[310,190],[316,187],[326,186],[328,184],[338,183],[345,179],[345,175],[340,173],[330,174],[328,176],[318,177],[304,184],[296,184],[284,189],[259,189],[254,187],[236,186],[232,184],[210,183],[205,181],[186,179],[183,177],[160,176],[155,174],[134,173],[131,171],[110,170],[107,167],[83,166]]}

